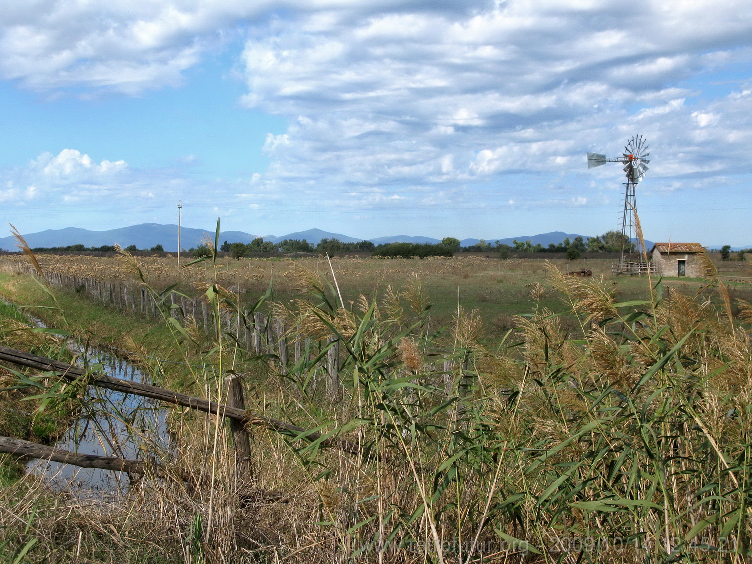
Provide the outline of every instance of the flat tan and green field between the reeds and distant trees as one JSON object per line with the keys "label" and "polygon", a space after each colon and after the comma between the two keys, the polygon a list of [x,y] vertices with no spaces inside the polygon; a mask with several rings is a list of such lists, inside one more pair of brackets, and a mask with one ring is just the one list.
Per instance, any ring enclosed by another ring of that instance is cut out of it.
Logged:
{"label": "flat tan and green field between the reeds and distant trees", "polygon": [[[26,260],[23,255],[7,258]],[[38,259],[45,270],[60,274],[95,277],[120,284],[137,283],[135,275],[114,256],[42,254]],[[211,281],[214,277],[211,261],[186,267],[192,259],[183,256],[183,268],[178,269],[177,259],[171,255],[137,257],[137,260],[153,287],[164,288],[177,283],[177,290],[189,296],[199,293],[196,288],[198,283]],[[514,326],[513,315],[529,314],[535,308],[548,308],[554,312],[569,309],[562,303],[560,294],[547,284],[547,262],[565,273],[582,268],[593,271],[593,277],[602,278],[606,287],[614,288],[617,302],[647,298],[650,287],[648,278],[612,275],[613,259],[547,260],[545,253],[541,253],[540,259],[508,260],[500,260],[493,253],[462,253],[453,258],[426,259],[338,256],[331,262],[326,257],[239,260],[223,257],[217,261],[217,281],[232,293],[238,293],[241,301],[248,304],[255,302],[271,284],[273,300],[285,304],[300,296],[298,277],[300,271],[305,269],[319,273],[332,286],[336,280],[347,309],[351,309],[361,295],[369,300],[376,297],[381,302],[389,287],[405,292],[420,284],[432,304],[432,328],[450,325],[456,317],[458,306],[461,306],[465,311],[478,310],[484,322],[484,341],[492,342]],[[752,262],[721,262],[714,257],[714,263],[721,276],[752,279]],[[652,283],[655,281],[653,277]],[[683,293],[693,295],[706,283],[700,279],[666,278],[663,284],[664,287],[677,287]],[[747,284],[730,284],[729,292],[732,299],[752,299],[752,286]],[[562,322],[572,335],[580,330],[573,318],[564,317]]]}

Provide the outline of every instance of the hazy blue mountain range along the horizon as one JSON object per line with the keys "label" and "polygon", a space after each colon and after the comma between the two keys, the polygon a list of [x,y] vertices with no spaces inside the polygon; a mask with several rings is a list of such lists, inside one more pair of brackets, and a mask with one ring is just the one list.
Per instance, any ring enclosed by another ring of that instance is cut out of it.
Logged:
{"label": "hazy blue mountain range along the horizon", "polygon": [[[74,244],[83,244],[86,247],[102,247],[102,245],[118,243],[122,247],[135,245],[139,249],[150,249],[157,244],[161,244],[167,251],[174,252],[177,250],[177,225],[160,225],[159,223],[141,223],[141,225],[121,227],[119,229],[110,229],[108,231],[89,231],[89,229],[79,229],[77,227],[47,229],[47,231],[29,233],[23,235],[23,237],[26,239],[29,247],[67,247],[68,245]],[[183,249],[198,247],[199,244],[201,244],[202,239],[207,237],[214,240],[214,231],[182,227],[180,229],[180,246],[183,247]],[[253,239],[257,237],[261,237],[265,241],[271,241],[272,243],[279,243],[284,239],[305,239],[311,244],[317,244],[323,238],[338,239],[344,243],[363,241],[363,239],[350,237],[341,233],[330,233],[322,231],[321,229],[308,229],[307,231],[288,233],[287,235],[281,235],[280,237],[274,235],[250,235],[250,233],[242,231],[223,231],[220,232],[220,244],[224,241],[228,241],[229,243],[250,243],[250,241],[253,241]],[[551,243],[559,244],[568,237],[570,240],[575,237],[582,237],[586,241],[590,238],[589,235],[554,231],[550,233],[540,233],[538,235],[520,235],[519,237],[487,238],[485,241],[492,245],[496,244],[496,241],[508,245],[514,245],[515,240],[530,241],[533,245],[540,243],[544,247],[547,247]],[[441,239],[423,236],[394,235],[393,237],[369,239],[369,241],[372,241],[374,244],[440,243]],[[469,238],[462,239],[461,243],[463,247],[469,247],[478,244],[480,241],[481,239]],[[650,247],[653,246],[653,242],[645,241],[645,245],[650,249]],[[15,238],[12,236],[0,238],[0,248],[5,250],[16,250]]]}

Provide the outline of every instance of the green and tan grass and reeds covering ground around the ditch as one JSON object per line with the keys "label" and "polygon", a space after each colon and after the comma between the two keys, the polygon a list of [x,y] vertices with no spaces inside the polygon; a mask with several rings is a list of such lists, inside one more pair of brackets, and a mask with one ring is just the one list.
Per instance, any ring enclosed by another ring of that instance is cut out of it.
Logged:
{"label": "green and tan grass and reeds covering ground around the ditch", "polygon": [[[164,323],[0,272],[5,299],[35,306],[0,308],[4,346],[65,356],[62,339],[88,338],[220,402],[224,377],[243,374],[250,411],[357,448],[253,425],[248,478],[222,420],[170,408],[163,472],[133,476],[122,498],[80,502],[5,472],[3,561],[749,558],[752,287],[720,278],[752,276],[747,263],[707,257],[702,280],[659,280],[612,277],[611,261],[593,259],[213,256],[178,271],[157,256],[37,258],[43,271],[147,287]],[[563,274],[581,268],[593,277]],[[226,328],[170,321],[171,284],[214,311],[248,308],[271,286],[259,311],[319,355],[338,342],[338,374],[315,355],[282,371]],[[61,331],[39,333],[23,312]],[[4,369],[3,382],[22,375],[42,388],[0,392],[0,407],[40,398],[26,419],[3,415],[4,429],[44,441],[24,426],[44,405],[74,413],[82,396],[50,374]]]}

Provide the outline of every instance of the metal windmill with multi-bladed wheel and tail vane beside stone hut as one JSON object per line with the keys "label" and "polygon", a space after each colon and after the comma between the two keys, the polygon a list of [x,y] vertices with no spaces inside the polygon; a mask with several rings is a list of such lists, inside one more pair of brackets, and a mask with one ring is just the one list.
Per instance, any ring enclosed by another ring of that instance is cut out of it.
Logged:
{"label": "metal windmill with multi-bladed wheel and tail vane beside stone hut", "polygon": [[[624,145],[622,156],[614,159],[607,159],[605,155],[598,153],[587,153],[587,168],[605,165],[607,162],[620,162],[624,165],[626,174],[626,190],[624,190],[624,208],[621,214],[621,232],[625,237],[621,245],[621,256],[619,264],[624,265],[629,259],[629,243],[635,240],[635,186],[642,180],[647,172],[647,159],[650,153],[647,153],[647,143],[642,135],[635,135]],[[639,244],[639,243],[638,243]]]}

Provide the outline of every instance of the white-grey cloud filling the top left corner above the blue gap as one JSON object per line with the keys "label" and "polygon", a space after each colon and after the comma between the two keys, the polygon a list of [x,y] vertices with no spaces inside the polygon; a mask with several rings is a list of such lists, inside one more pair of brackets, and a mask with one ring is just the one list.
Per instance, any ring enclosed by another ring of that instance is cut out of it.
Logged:
{"label": "white-grey cloud filling the top left corner above the blue gap", "polygon": [[[83,86],[138,95],[177,86],[203,53],[229,41],[239,26],[287,12],[308,29],[328,28],[359,14],[408,10],[413,2],[351,0],[129,0],[5,3],[0,23],[0,76],[46,91]],[[442,2],[428,11],[472,10],[484,2]],[[322,53],[323,54],[323,53]]]}

